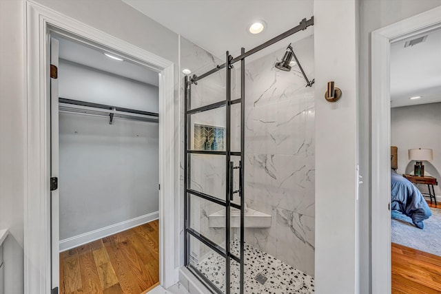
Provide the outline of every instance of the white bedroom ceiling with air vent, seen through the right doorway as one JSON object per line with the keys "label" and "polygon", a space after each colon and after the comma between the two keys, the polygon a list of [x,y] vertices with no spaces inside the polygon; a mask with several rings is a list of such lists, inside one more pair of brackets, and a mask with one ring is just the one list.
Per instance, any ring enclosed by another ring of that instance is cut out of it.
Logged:
{"label": "white bedroom ceiling with air vent, seen through the right doorway", "polygon": [[[423,35],[391,44],[391,107],[441,102],[441,30],[404,48],[406,41]],[[412,96],[422,98],[410,100]]]}

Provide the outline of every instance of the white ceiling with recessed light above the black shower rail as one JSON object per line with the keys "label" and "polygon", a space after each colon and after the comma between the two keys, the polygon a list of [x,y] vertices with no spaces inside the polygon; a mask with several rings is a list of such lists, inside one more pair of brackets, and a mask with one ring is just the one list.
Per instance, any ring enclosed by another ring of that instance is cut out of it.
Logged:
{"label": "white ceiling with recessed light above the black shower rail", "polygon": [[[123,1],[221,60],[227,50],[238,56],[241,47],[250,50],[313,14],[313,0]],[[260,34],[247,32],[259,19],[267,28]],[[302,39],[309,34],[311,28],[296,35]]]}

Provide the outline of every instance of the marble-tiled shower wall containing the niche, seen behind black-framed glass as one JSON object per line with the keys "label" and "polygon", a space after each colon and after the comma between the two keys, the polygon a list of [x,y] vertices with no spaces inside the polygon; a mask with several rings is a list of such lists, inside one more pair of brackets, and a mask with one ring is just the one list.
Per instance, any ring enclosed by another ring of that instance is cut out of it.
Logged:
{"label": "marble-tiled shower wall containing the niche, seen behind black-framed glass", "polygon": [[[181,69],[188,68],[192,74],[203,74],[208,70],[223,63],[209,52],[198,47],[194,43],[181,37]],[[181,74],[183,81],[184,75]],[[198,85],[192,87],[191,108],[200,107],[217,101],[225,100],[225,71],[219,71],[216,74],[208,76],[198,82]],[[184,146],[184,85],[181,84],[181,113],[180,118],[180,138],[181,146]],[[194,142],[194,123],[200,125],[212,125],[216,127],[225,127],[225,110],[218,109],[211,112],[201,112],[192,116],[192,135],[190,142]],[[184,185],[184,151],[181,152],[180,162],[180,196],[183,197]],[[206,156],[194,154],[191,158],[191,182],[190,187],[196,191],[201,191],[218,198],[225,199],[225,157]],[[191,226],[196,231],[202,233],[217,244],[225,246],[225,229],[210,228],[208,216],[211,213],[223,209],[218,204],[208,202],[196,197],[192,198],[192,209],[190,213]],[[183,224],[180,230],[183,238]],[[191,244],[191,251],[194,258],[202,260],[205,255],[211,253],[207,246],[201,244]]]}

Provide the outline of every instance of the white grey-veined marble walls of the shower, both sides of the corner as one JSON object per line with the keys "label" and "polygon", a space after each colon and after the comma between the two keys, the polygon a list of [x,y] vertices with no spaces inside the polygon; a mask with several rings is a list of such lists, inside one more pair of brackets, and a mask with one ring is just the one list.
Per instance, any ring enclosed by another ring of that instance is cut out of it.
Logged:
{"label": "white grey-veined marble walls of the shower, both sides of the corner", "polygon": [[[313,36],[293,44],[309,78],[314,78]],[[298,67],[291,72],[274,69],[285,48],[246,64],[245,200],[249,207],[271,214],[269,229],[246,229],[245,241],[287,264],[314,275],[314,86],[305,87]],[[202,74],[224,61],[181,38],[181,70]],[[235,65],[236,70],[239,70]],[[233,76],[240,76],[233,71]],[[181,76],[183,78],[183,75]],[[232,85],[239,98],[240,82]],[[181,146],[183,145],[183,85],[181,87]],[[192,108],[225,99],[225,70],[192,87]],[[238,121],[239,105],[232,119]],[[236,117],[237,116],[237,117]],[[193,123],[225,126],[223,109],[195,116]],[[232,149],[238,151],[239,125],[232,123]],[[192,125],[194,129],[194,125]],[[191,138],[193,140],[193,138]],[[183,148],[181,148],[181,197],[183,197]],[[207,156],[192,160],[192,188],[225,198],[225,158]],[[237,187],[237,183],[236,183]],[[222,207],[205,200],[192,203],[192,226],[214,242],[225,245],[225,229],[209,227],[208,216]],[[183,238],[181,224],[181,238]],[[234,235],[236,229],[232,229]],[[194,245],[201,260],[210,252]]]}

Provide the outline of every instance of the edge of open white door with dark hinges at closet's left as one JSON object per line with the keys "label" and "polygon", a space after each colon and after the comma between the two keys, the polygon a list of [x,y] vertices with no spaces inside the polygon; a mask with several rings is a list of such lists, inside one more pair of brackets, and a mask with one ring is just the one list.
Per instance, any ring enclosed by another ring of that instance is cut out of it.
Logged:
{"label": "edge of open white door with dark hinges at closet's left", "polygon": [[[50,38],[50,176],[59,178],[58,40]],[[52,289],[59,287],[59,189],[51,188]]]}

